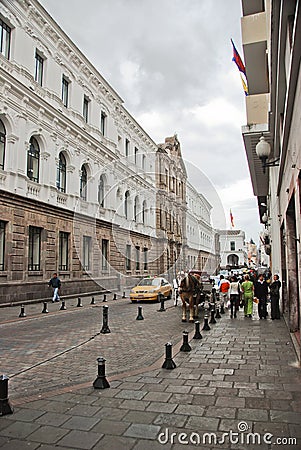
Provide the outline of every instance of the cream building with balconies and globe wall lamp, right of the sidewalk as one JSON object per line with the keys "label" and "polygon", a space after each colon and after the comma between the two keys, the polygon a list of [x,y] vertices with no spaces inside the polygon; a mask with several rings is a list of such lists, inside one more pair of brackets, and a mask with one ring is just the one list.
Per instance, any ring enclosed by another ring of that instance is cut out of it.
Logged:
{"label": "cream building with balconies and globe wall lamp, right of the sidewalk", "polygon": [[300,356],[300,2],[242,0],[249,95],[242,128],[264,248],[282,281],[282,311]]}

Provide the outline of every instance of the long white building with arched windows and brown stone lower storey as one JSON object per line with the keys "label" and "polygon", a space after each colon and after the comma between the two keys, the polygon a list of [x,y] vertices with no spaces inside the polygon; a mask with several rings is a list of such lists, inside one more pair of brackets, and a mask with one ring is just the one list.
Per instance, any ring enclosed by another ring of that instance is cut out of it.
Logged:
{"label": "long white building with arched windows and brown stone lower storey", "polygon": [[53,272],[63,295],[171,279],[192,258],[186,182],[177,136],[157,145],[37,0],[1,2],[0,303],[49,297]]}

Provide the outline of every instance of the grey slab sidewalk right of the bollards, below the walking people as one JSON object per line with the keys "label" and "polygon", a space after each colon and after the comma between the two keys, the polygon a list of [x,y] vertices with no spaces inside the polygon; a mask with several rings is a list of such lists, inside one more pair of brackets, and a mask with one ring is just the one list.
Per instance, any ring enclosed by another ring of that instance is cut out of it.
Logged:
{"label": "grey slab sidewalk right of the bollards, below the walking people", "polygon": [[[167,322],[179,320],[173,310]],[[301,371],[284,321],[225,314],[202,335],[191,352],[175,346],[173,370],[161,368],[163,357],[108,377],[109,389],[91,380],[19,398],[0,417],[1,450],[300,449]]]}

